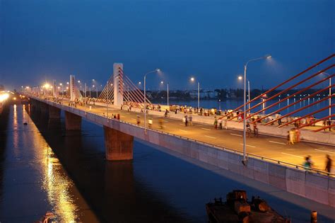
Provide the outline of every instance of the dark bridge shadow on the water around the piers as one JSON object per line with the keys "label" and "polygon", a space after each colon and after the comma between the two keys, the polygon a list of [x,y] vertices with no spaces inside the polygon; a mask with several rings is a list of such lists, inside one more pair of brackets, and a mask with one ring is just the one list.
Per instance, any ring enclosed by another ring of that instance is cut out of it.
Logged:
{"label": "dark bridge shadow on the water around the piers", "polygon": [[66,131],[63,117],[30,117],[101,222],[191,222],[137,179],[134,161],[105,160],[102,127],[83,121],[83,130]]}

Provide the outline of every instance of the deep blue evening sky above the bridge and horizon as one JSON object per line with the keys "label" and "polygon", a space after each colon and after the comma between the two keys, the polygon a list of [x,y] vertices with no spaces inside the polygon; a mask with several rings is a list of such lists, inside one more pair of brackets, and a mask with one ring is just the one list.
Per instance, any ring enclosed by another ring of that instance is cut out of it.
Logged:
{"label": "deep blue evening sky above the bridge and horizon", "polygon": [[335,1],[0,0],[0,84],[97,79],[114,62],[134,81],[158,88],[274,86],[335,52]]}

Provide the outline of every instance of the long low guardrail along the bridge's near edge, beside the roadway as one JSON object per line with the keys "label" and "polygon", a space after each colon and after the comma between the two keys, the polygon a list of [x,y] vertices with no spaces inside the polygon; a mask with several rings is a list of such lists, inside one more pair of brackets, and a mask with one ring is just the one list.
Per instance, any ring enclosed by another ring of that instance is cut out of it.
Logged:
{"label": "long low guardrail along the bridge's near edge, beside the roadway", "polygon": [[[35,97],[35,96],[34,96]],[[38,98],[38,97],[37,97]],[[41,99],[41,98],[39,98]],[[42,99],[42,100],[45,100],[45,99]],[[49,100],[47,100],[49,101]],[[61,104],[61,103],[57,103],[57,102],[54,102],[54,101],[49,101],[51,103],[55,103],[57,105],[61,105],[63,107],[68,107],[68,108],[74,108],[72,106],[69,106],[69,105],[64,105],[64,104]],[[78,109],[78,108],[76,108]],[[88,110],[81,110],[81,109],[78,109],[79,111],[83,111],[84,113],[90,113],[92,115],[98,115],[102,118],[107,118],[107,120],[114,120],[114,121],[118,121],[118,122],[122,122],[126,125],[131,125],[131,126],[134,126],[134,127],[139,127],[139,128],[142,128],[143,131],[144,131],[144,127],[142,127],[141,125],[136,125],[136,124],[133,124],[133,123],[130,123],[130,122],[125,122],[125,121],[122,121],[122,120],[118,120],[116,118],[110,118],[110,117],[107,117],[106,115],[100,115],[100,114],[97,114],[97,113],[92,113]],[[232,152],[234,154],[240,154],[242,156],[242,152],[241,151],[238,151],[236,149],[231,149],[231,148],[228,148],[228,147],[221,147],[219,145],[216,145],[216,144],[210,144],[208,142],[203,142],[203,141],[200,141],[200,140],[197,140],[197,139],[192,139],[192,138],[189,138],[189,137],[183,137],[181,135],[175,135],[173,133],[170,133],[170,132],[163,132],[161,130],[154,130],[152,128],[146,128],[147,131],[153,131],[153,132],[158,132],[160,134],[163,134],[163,135],[171,135],[173,137],[177,137],[177,138],[180,138],[180,139],[186,139],[186,140],[189,140],[189,141],[192,141],[192,142],[196,142],[196,143],[199,143],[199,144],[203,144],[207,147],[213,147],[213,148],[216,148],[216,149],[221,149],[221,150],[224,150],[224,151],[229,151],[229,152]],[[288,163],[286,161],[280,161],[280,160],[277,160],[277,159],[271,159],[271,158],[268,158],[266,156],[259,156],[257,154],[252,154],[252,153],[246,153],[247,154],[247,157],[252,157],[252,158],[255,158],[255,159],[261,159],[261,160],[264,160],[264,161],[270,161],[271,163],[276,163],[276,164],[281,164],[283,166],[288,166],[288,167],[293,167],[295,169],[300,169],[302,171],[306,171],[306,172],[310,172],[310,173],[318,173],[318,174],[322,174],[324,176],[331,176],[331,177],[335,177],[335,173],[329,173],[329,172],[326,172],[326,171],[321,171],[317,168],[309,168],[309,167],[306,167],[306,166],[302,166],[302,165],[299,165],[299,164],[291,164],[291,163]]]}

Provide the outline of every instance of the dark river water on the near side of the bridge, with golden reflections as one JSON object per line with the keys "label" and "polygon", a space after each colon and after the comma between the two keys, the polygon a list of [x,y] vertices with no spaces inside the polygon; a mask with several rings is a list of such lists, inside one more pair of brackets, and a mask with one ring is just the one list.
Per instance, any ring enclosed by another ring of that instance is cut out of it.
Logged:
{"label": "dark river water on the near side of the bridge, with golden reflections", "polygon": [[[277,190],[263,192],[137,140],[133,161],[106,161],[102,127],[83,120],[81,132],[66,132],[64,118],[28,115],[23,106],[0,116],[0,222],[34,222],[47,211],[55,222],[206,222],[206,202],[233,189],[260,195],[293,222],[310,219],[310,210]],[[319,215],[319,222],[333,217]]]}

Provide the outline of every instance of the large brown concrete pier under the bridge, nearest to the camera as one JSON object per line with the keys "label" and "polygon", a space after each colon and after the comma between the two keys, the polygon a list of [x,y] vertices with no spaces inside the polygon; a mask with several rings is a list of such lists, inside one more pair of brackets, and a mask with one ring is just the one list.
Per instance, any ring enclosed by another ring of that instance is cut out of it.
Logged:
{"label": "large brown concrete pier under the bridge, nearest to the camera", "polygon": [[134,137],[104,126],[106,159],[111,161],[133,159]]}

